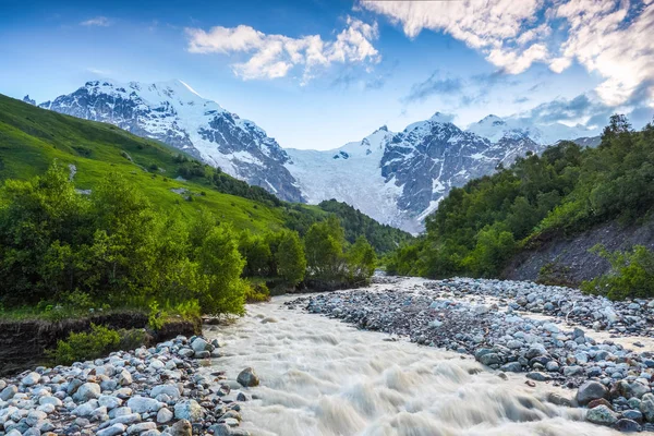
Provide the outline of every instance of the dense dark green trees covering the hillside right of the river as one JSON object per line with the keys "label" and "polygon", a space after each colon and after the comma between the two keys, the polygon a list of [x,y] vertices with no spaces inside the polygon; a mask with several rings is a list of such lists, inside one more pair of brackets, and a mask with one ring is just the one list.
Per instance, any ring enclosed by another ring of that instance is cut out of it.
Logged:
{"label": "dense dark green trees covering the hillside right of the river", "polygon": [[654,207],[654,126],[614,116],[597,148],[561,142],[541,156],[453,189],[426,220],[426,234],[389,256],[402,275],[498,277],[522,247]]}

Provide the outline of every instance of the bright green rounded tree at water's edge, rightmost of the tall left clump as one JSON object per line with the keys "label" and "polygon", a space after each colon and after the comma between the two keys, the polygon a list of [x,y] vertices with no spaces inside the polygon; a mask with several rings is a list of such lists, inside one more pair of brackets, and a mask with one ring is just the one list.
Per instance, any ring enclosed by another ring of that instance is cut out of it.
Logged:
{"label": "bright green rounded tree at water's edge, rightmost of the tall left clump", "polygon": [[222,223],[209,232],[198,253],[207,288],[199,304],[209,314],[243,314],[247,284],[241,279],[245,261],[231,226]]}

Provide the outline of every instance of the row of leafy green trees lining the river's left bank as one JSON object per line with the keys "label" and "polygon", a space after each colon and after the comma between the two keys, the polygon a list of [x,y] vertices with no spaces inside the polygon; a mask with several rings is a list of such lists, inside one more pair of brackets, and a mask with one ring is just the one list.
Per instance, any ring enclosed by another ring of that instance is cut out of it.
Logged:
{"label": "row of leafy green trees lining the river's left bank", "polygon": [[156,210],[120,174],[90,195],[77,193],[53,165],[0,190],[2,307],[160,307],[205,314],[243,312],[251,283],[276,278],[330,284],[365,282],[375,253],[349,245],[335,217],[304,240],[284,230],[255,235],[199,209],[193,217]]}

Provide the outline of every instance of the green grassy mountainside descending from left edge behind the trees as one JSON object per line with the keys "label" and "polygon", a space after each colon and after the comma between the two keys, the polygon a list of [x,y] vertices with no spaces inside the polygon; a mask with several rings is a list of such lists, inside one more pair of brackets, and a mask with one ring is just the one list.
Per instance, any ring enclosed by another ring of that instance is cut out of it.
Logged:
{"label": "green grassy mountainside descending from left edge behind the trees", "polygon": [[284,203],[166,144],[0,95],[0,182],[41,174],[53,160],[70,169],[82,192],[93,190],[109,172],[120,172],[158,208],[187,216],[206,207],[237,229],[289,228],[303,234],[312,223],[335,214],[348,229],[350,242],[364,234],[380,254],[410,238],[347,205]]}

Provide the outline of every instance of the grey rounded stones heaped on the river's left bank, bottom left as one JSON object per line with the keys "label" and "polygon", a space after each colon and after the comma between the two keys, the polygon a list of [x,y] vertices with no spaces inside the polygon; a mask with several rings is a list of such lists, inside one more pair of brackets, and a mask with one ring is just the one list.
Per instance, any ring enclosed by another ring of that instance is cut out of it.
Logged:
{"label": "grey rounded stones heaped on the river's left bank, bottom left", "polygon": [[198,367],[221,343],[178,337],[154,348],[0,379],[0,435],[241,435],[241,402],[258,384]]}

